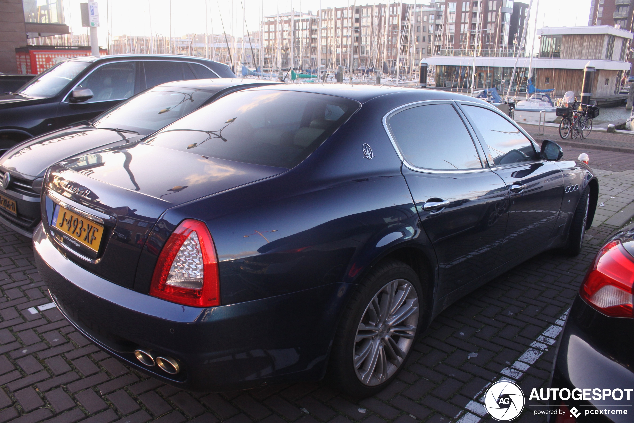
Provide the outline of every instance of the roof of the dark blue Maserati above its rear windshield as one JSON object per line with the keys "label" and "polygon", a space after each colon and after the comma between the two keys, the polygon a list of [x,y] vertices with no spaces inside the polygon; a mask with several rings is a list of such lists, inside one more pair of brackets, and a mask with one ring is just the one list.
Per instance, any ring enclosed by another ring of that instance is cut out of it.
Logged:
{"label": "roof of the dark blue Maserati above its rear windshield", "polygon": [[[251,88],[251,90],[266,90],[271,87],[259,87]],[[359,101],[359,103],[366,103],[373,98],[384,96],[387,94],[408,94],[417,93],[420,98],[417,101],[425,100],[463,100],[463,101],[478,101],[477,98],[471,96],[465,96],[458,93],[448,93],[437,89],[422,89],[422,88],[408,88],[408,87],[395,87],[395,86],[380,86],[380,85],[344,85],[344,84],[319,84],[319,83],[307,83],[307,84],[283,84],[276,86],[275,89],[285,91],[302,91],[304,93],[317,93],[328,94],[332,96],[339,96],[349,98],[350,100]],[[486,103],[486,102],[485,102]]]}

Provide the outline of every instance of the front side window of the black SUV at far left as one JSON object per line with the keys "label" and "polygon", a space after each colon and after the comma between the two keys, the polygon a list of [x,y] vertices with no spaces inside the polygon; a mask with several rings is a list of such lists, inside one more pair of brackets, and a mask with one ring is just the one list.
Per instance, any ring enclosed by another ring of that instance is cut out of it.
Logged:
{"label": "front side window of the black SUV at far left", "polygon": [[93,98],[86,103],[108,100],[125,100],[134,94],[136,62],[118,62],[103,65],[79,84],[79,88],[89,88]]}

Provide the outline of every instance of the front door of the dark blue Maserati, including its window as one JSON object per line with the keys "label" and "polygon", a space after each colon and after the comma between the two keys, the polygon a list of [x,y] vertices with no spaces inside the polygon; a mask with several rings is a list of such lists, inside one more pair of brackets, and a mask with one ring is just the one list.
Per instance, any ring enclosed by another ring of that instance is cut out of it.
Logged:
{"label": "front door of the dark blue Maserati, including its window", "polygon": [[554,235],[564,195],[561,169],[541,160],[536,145],[508,117],[473,104],[463,103],[462,109],[510,195],[507,233],[498,264],[523,253],[536,254]]}

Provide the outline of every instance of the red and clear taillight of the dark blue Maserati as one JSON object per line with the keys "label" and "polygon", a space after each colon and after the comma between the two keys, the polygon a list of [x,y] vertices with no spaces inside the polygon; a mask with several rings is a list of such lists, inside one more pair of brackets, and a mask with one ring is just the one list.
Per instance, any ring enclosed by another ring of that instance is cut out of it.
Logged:
{"label": "red and clear taillight of the dark blue Maserati", "polygon": [[150,295],[185,306],[220,305],[216,246],[207,225],[193,219],[178,225],[154,268]]}

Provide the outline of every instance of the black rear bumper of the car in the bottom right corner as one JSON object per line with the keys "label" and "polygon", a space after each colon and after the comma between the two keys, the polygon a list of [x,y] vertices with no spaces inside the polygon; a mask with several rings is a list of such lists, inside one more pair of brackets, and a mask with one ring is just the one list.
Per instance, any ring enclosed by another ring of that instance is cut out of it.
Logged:
{"label": "black rear bumper of the car in the bottom right corner", "polygon": [[[555,361],[552,388],[586,389],[586,400],[562,401],[557,396],[553,401],[552,391],[548,399],[551,409],[559,407],[562,402],[570,409],[575,407],[581,415],[577,423],[630,423],[634,421],[634,391],[623,392],[621,400],[607,396],[605,400],[595,400],[593,389],[628,389],[634,388],[634,373],[623,364],[631,360],[631,325],[634,319],[610,318],[598,313],[588,306],[579,296],[576,297],[562,333],[559,351]],[[600,333],[602,332],[602,333]],[[613,338],[613,343],[605,339]],[[614,336],[612,336],[614,335]],[[616,346],[616,349],[614,348]],[[629,353],[621,353],[622,347]],[[619,359],[620,358],[620,359]],[[619,363],[620,362],[620,363]],[[623,363],[623,364],[621,364]],[[588,391],[590,389],[590,391]],[[579,398],[579,391],[575,394]],[[617,394],[617,397],[619,394]],[[614,412],[612,411],[614,410]],[[625,413],[626,412],[626,413]],[[566,416],[568,417],[568,416]],[[554,417],[551,417],[554,422]]]}

